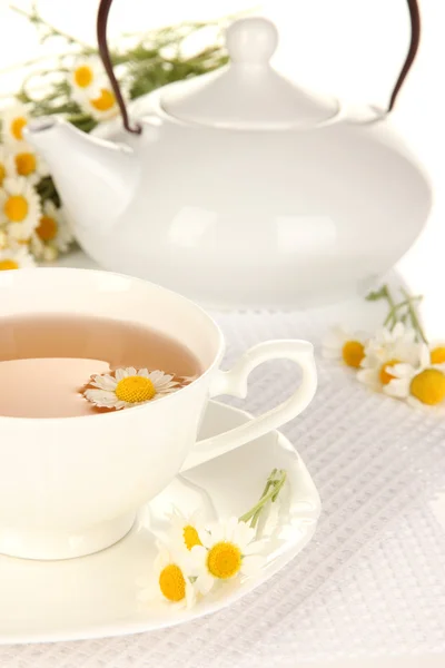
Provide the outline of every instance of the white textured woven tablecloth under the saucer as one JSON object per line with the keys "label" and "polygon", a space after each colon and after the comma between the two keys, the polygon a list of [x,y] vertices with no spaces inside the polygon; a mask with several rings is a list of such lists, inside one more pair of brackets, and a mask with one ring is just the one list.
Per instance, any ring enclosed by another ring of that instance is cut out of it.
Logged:
{"label": "white textured woven tablecloth under the saucer", "polygon": [[[265,338],[317,344],[325,328],[309,314],[217,320],[227,364]],[[445,665],[445,422],[368,393],[319,355],[318,371],[313,404],[283,430],[324,504],[314,541],[294,562],[201,620],[126,638],[2,647],[1,668],[294,668],[422,652],[444,652]],[[286,363],[263,365],[248,401],[236,404],[255,413],[283,400],[294,374]]]}

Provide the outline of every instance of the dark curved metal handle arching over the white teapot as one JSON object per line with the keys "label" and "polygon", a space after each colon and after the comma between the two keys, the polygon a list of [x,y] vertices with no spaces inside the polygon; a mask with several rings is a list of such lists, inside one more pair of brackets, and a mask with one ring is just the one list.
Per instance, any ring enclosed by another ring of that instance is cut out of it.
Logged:
{"label": "dark curved metal handle arching over the white teapot", "polygon": [[[122,94],[120,91],[118,80],[116,79],[116,76],[115,76],[115,72],[112,69],[110,52],[108,49],[107,22],[108,22],[108,14],[110,12],[111,2],[112,2],[112,0],[100,0],[100,2],[99,2],[99,9],[98,9],[98,16],[97,16],[97,39],[98,39],[98,46],[99,46],[99,55],[102,60],[105,70],[108,75],[108,78],[110,80],[111,88],[116,96],[116,100],[119,105],[119,109],[120,109],[120,114],[122,116],[122,122],[123,122],[125,129],[135,135],[140,135],[140,132],[142,131],[142,128],[139,124],[135,124],[134,127],[130,126],[127,107],[126,107]],[[408,3],[408,10],[409,10],[409,20],[411,20],[409,49],[406,55],[405,62],[403,65],[400,73],[398,75],[397,81],[390,94],[387,114],[389,114],[393,110],[394,105],[396,104],[396,99],[398,97],[398,94],[400,92],[402,86],[404,85],[405,79],[408,76],[408,72],[412,68],[414,59],[417,55],[418,45],[421,41],[421,14],[418,11],[417,0],[407,0],[407,3]]]}

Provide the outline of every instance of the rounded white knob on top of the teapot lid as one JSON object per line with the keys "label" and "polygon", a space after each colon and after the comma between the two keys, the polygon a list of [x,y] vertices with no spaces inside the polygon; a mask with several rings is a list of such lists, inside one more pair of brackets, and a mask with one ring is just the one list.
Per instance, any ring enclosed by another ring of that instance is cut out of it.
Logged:
{"label": "rounded white knob on top of the teapot lid", "polygon": [[227,29],[226,46],[234,63],[266,65],[278,46],[278,30],[263,17],[239,19]]}

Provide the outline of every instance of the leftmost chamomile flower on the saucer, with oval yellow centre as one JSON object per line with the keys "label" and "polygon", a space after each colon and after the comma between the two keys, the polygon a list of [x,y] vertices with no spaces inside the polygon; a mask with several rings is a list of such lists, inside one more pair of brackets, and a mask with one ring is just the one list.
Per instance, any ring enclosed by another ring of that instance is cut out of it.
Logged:
{"label": "leftmost chamomile flower on the saucer, with oval yellow centre", "polygon": [[142,587],[138,599],[141,602],[169,603],[175,608],[191,608],[196,602],[196,588],[190,582],[187,556],[177,554],[161,543],[158,543],[158,550],[152,576],[137,581]]}

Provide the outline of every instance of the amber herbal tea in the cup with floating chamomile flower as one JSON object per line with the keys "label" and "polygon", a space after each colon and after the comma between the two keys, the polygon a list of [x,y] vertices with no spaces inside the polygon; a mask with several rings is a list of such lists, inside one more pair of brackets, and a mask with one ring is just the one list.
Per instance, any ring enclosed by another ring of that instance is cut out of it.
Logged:
{"label": "amber herbal tea in the cup with floating chamomile flower", "polygon": [[0,318],[3,416],[119,410],[177,391],[199,374],[188,348],[138,324],[93,316]]}

